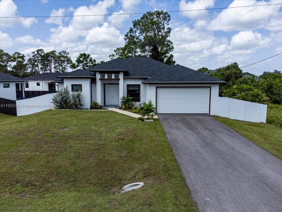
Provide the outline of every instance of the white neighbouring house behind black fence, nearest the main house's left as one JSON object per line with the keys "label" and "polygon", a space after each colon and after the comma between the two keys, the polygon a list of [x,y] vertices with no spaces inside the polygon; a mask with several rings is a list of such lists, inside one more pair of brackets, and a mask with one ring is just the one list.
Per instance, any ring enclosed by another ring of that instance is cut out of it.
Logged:
{"label": "white neighbouring house behind black fence, nearest the main house's left", "polygon": [[54,82],[57,77],[62,76],[63,73],[60,72],[46,72],[33,75],[30,77],[25,77],[23,80],[28,81],[25,83],[26,91],[56,91],[59,90],[63,83]]}

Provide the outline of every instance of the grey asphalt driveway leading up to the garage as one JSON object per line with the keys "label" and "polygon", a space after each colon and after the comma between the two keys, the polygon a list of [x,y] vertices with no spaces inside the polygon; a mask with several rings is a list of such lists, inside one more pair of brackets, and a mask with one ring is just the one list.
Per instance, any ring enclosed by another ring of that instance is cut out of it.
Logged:
{"label": "grey asphalt driveway leading up to the garage", "polygon": [[208,114],[158,114],[199,211],[282,211],[282,161]]}

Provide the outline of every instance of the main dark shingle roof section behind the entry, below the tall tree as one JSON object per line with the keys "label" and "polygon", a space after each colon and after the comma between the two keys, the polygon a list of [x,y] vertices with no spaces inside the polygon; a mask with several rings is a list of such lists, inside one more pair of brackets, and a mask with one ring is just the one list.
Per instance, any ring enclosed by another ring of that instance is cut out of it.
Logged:
{"label": "main dark shingle roof section behind the entry, below the tall tree", "polygon": [[108,62],[103,66],[93,66],[89,70],[124,70],[128,71],[124,73],[124,77],[151,77],[171,67],[149,57],[130,57]]}

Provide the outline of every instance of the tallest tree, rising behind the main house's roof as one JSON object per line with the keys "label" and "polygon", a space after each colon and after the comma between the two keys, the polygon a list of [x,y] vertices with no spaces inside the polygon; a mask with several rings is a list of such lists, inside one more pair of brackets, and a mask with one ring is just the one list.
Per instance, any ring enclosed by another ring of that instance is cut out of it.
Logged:
{"label": "tallest tree, rising behind the main house's roof", "polygon": [[173,43],[169,40],[171,28],[167,27],[170,15],[163,10],[147,12],[140,19],[133,21],[133,27],[125,34],[125,46],[114,50],[111,59],[128,57],[150,57],[174,65]]}

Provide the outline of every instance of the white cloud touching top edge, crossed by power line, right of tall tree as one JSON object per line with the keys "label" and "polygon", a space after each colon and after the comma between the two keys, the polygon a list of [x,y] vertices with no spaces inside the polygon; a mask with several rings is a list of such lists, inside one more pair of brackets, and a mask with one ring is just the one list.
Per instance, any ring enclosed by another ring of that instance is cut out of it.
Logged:
{"label": "white cloud touching top edge, crossed by power line, right of tall tree", "polygon": [[207,10],[201,10],[213,7],[215,0],[198,0],[189,1],[186,3],[185,0],[181,0],[179,3],[179,10],[198,10],[198,11],[186,11],[181,12],[181,14],[188,18],[199,18],[208,15]]}

